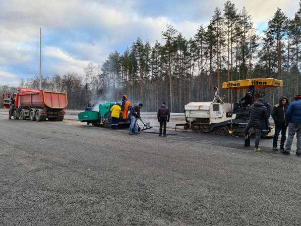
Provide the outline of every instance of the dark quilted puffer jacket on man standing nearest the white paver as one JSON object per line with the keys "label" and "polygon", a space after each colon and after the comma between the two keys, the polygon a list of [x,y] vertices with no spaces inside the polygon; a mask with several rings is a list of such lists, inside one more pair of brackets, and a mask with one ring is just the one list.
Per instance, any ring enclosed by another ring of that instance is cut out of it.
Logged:
{"label": "dark quilted puffer jacket on man standing nearest the white paver", "polygon": [[254,102],[251,106],[250,122],[251,127],[261,129],[263,120],[269,118],[268,109],[261,100]]}

